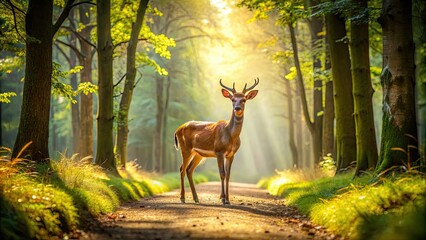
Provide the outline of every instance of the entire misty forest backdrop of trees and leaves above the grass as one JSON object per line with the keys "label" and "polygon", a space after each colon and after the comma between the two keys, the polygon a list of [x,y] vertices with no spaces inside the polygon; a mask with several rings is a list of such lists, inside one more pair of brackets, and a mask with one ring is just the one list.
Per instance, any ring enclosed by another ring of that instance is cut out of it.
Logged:
{"label": "entire misty forest backdrop of trees and leaves above the grass", "polygon": [[236,179],[326,162],[356,174],[419,166],[423,3],[403,4],[411,17],[398,28],[393,2],[1,1],[0,145],[16,156],[32,142],[24,153],[37,161],[177,171],[176,128],[230,118],[219,79],[242,89],[259,78]]}

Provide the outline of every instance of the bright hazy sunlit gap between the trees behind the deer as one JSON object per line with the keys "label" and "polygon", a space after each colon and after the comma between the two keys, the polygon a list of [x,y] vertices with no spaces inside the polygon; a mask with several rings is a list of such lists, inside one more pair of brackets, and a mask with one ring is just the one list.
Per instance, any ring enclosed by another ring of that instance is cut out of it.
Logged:
{"label": "bright hazy sunlit gap between the trees behind the deer", "polygon": [[[292,167],[288,147],[288,121],[284,84],[280,66],[271,64],[268,54],[260,48],[270,38],[262,23],[247,24],[252,17],[247,9],[237,8],[235,3],[223,0],[211,1],[223,13],[219,18],[223,40],[203,41],[200,44],[201,64],[207,76],[208,92],[202,101],[210,100],[210,112],[202,121],[230,120],[232,103],[221,94],[222,82],[242,91],[245,84],[251,86],[255,78],[260,79],[258,96],[247,101],[241,146],[235,155],[231,180],[256,183],[262,176],[270,176],[274,169]],[[269,25],[270,26],[270,25]],[[269,29],[277,31],[277,29]],[[203,79],[204,80],[204,79]],[[216,160],[208,160],[201,168],[217,171]]]}

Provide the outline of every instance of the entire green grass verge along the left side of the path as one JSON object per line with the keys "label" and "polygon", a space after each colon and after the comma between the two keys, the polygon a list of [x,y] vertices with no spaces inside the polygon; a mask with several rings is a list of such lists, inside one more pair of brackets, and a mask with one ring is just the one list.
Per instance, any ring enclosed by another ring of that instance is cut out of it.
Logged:
{"label": "entire green grass verge along the left side of the path", "polygon": [[[29,171],[36,169],[37,171]],[[64,237],[84,218],[114,211],[124,201],[179,187],[179,174],[156,176],[134,163],[110,176],[101,168],[62,158],[50,165],[0,157],[0,235],[2,239]],[[195,182],[208,181],[194,174]]]}

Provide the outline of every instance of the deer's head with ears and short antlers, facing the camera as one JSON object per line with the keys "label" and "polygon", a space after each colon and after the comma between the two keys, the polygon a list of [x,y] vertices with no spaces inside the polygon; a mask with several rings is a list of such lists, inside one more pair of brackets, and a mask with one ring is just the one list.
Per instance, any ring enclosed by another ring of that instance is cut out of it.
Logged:
{"label": "deer's head with ears and short antlers, facing the camera", "polygon": [[257,84],[259,84],[259,78],[255,79],[254,84],[249,88],[247,88],[246,83],[242,92],[237,92],[237,90],[235,90],[235,82],[233,83],[232,88],[223,85],[222,79],[220,79],[219,82],[220,85],[223,87],[222,95],[232,100],[232,107],[235,116],[242,117],[244,115],[244,105],[246,101],[253,99],[257,95],[258,91],[252,89],[256,87]]}

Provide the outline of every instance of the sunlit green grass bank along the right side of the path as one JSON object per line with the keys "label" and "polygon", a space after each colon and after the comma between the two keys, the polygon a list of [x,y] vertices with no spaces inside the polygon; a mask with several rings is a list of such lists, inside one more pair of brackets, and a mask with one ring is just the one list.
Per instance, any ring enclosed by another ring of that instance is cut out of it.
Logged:
{"label": "sunlit green grass bank along the right side of the path", "polygon": [[426,236],[426,180],[400,175],[371,184],[352,174],[293,182],[291,174],[259,186],[285,198],[311,220],[349,239],[422,239]]}

